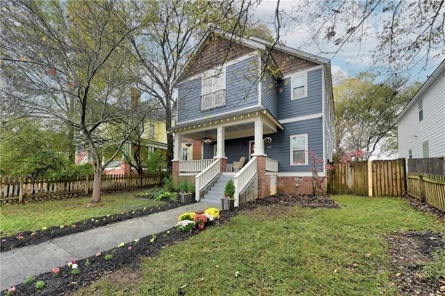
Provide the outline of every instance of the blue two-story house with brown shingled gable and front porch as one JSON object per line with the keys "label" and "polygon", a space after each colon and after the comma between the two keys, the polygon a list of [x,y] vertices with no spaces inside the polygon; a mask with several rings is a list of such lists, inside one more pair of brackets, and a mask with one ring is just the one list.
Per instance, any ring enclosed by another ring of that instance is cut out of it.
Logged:
{"label": "blue two-story house with brown shingled gable and front porch", "polygon": [[[218,33],[194,57],[178,88],[174,178],[194,179],[195,199],[209,202],[223,197],[218,183],[221,190],[233,179],[235,206],[311,193],[314,166],[322,177],[332,159],[330,60]],[[197,140],[201,159],[181,160],[184,141]]]}

